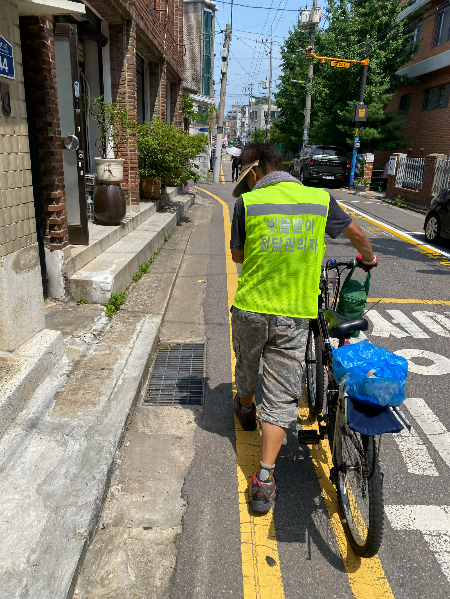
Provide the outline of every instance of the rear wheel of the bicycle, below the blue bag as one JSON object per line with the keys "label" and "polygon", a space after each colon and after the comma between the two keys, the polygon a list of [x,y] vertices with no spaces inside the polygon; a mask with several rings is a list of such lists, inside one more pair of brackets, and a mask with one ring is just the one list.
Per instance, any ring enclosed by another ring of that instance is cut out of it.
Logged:
{"label": "rear wheel of the bicycle, below the blue bag", "polygon": [[383,489],[375,437],[340,428],[337,491],[344,530],[361,557],[377,554],[383,536]]}

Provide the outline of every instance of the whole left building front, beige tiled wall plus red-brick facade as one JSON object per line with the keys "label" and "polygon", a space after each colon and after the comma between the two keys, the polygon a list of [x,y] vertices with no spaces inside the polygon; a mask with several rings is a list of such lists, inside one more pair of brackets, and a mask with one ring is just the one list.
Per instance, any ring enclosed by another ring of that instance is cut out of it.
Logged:
{"label": "whole left building front, beige tiled wall plus red-brick facade", "polygon": [[[85,97],[182,126],[182,72],[182,0],[0,0],[2,367],[2,352],[42,337],[45,295],[64,296],[65,263],[89,244],[86,174],[99,152]],[[135,139],[119,157],[128,208],[139,211]],[[64,350],[53,333],[36,347],[55,358]]]}

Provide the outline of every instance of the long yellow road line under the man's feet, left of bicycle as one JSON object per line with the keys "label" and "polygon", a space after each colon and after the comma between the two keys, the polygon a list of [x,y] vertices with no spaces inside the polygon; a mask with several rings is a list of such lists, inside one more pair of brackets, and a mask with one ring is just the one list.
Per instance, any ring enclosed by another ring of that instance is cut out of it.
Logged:
{"label": "long yellow road line under the man's feet, left of bicycle", "polygon": [[[196,188],[199,189],[199,188]],[[225,257],[227,274],[228,304],[231,307],[237,289],[237,268],[231,258],[231,223],[227,204],[219,197],[199,189],[212,196],[222,205],[223,228],[225,231]],[[231,341],[231,377],[233,393],[236,392],[234,368],[236,359]],[[236,465],[239,493],[239,518],[241,524],[242,575],[244,599],[284,599],[281,578],[280,558],[272,511],[267,514],[253,515],[249,506],[249,483],[255,470],[259,468],[261,453],[261,435],[259,431],[246,432],[239,420],[234,419],[236,432]],[[267,558],[272,558],[267,559]],[[274,564],[269,566],[268,561]]]}

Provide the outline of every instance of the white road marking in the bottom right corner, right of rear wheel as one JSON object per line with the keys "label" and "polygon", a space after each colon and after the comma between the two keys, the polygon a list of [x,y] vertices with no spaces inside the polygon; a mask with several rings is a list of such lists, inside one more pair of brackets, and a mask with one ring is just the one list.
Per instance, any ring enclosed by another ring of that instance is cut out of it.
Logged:
{"label": "white road marking in the bottom right corner, right of rear wheel", "polygon": [[419,530],[450,582],[450,506],[387,505],[384,511],[396,530]]}

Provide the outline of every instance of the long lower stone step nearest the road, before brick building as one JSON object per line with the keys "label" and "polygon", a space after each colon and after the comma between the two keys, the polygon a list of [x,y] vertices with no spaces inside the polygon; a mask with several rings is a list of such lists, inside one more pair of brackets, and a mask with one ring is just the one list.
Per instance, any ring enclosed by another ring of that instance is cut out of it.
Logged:
{"label": "long lower stone step nearest the road, before brick building", "polygon": [[111,293],[124,291],[141,264],[162,246],[193,201],[193,194],[175,196],[164,210],[154,213],[69,276],[73,298],[104,304]]}

